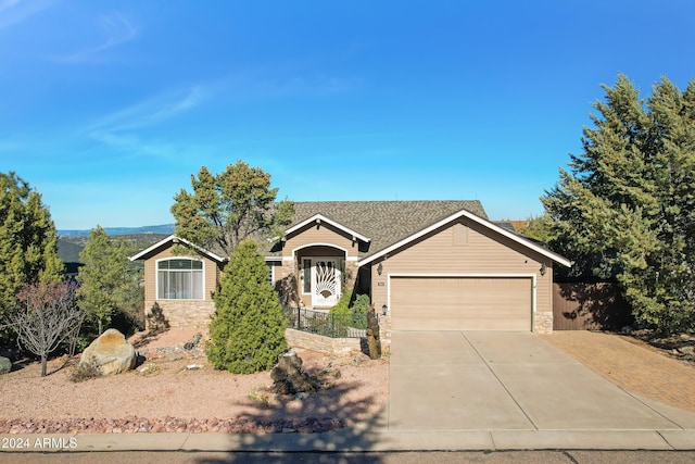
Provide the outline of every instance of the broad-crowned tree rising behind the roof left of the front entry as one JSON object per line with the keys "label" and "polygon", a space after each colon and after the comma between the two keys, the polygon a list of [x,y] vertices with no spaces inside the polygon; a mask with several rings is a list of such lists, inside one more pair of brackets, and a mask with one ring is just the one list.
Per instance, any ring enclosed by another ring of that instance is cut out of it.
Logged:
{"label": "broad-crowned tree rising behind the roof left of the front entry", "polygon": [[192,193],[181,189],[174,197],[176,235],[227,255],[249,237],[279,235],[294,214],[291,201],[275,203],[270,175],[241,160],[217,175],[201,167],[191,186]]}

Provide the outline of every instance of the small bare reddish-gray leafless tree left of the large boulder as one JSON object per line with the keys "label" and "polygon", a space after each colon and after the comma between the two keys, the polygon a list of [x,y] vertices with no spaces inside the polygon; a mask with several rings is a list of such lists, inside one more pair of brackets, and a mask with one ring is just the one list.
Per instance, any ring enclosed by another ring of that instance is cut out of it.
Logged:
{"label": "small bare reddish-gray leafless tree left of the large boulder", "polygon": [[38,283],[25,285],[17,294],[20,309],[10,316],[17,344],[41,358],[46,376],[48,355],[63,342],[74,346],[85,312],[75,304],[75,284]]}

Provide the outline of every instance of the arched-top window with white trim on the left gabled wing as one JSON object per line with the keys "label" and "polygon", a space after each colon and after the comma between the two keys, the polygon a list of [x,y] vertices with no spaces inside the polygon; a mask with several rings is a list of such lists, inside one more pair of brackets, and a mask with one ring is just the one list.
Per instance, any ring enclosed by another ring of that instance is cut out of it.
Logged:
{"label": "arched-top window with white trim on the left gabled wing", "polygon": [[203,300],[203,262],[173,258],[156,263],[156,298]]}

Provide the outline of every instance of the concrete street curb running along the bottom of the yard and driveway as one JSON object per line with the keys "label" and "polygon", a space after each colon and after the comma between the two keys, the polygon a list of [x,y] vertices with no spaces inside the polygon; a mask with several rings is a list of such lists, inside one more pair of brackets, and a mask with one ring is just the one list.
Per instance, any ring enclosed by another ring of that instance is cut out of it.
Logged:
{"label": "concrete street curb running along the bottom of the yard and driveway", "polygon": [[465,430],[324,434],[17,434],[2,452],[695,450],[695,430]]}

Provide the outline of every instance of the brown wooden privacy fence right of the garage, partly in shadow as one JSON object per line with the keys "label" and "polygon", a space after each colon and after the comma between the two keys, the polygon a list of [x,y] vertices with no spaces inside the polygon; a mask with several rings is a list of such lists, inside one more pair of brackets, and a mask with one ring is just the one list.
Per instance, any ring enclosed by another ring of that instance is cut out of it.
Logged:
{"label": "brown wooden privacy fence right of the garage, partly in shadow", "polygon": [[553,284],[553,330],[619,330],[632,322],[615,284]]}

